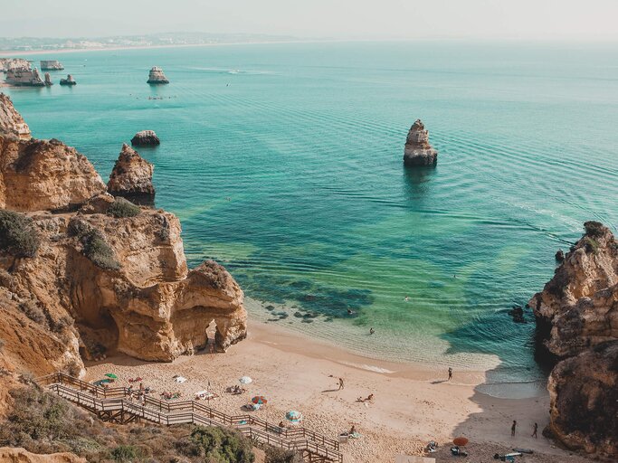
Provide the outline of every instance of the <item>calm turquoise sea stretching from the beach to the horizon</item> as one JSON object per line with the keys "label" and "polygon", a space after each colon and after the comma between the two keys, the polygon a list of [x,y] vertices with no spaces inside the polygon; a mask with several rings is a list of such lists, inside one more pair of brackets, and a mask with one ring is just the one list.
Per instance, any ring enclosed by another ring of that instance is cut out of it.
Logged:
{"label": "calm turquoise sea stretching from the beach to the horizon", "polygon": [[[53,80],[71,72],[75,88],[8,90],[35,137],[76,146],[107,179],[121,143],[156,130],[161,146],[140,153],[156,165],[157,205],[182,220],[190,263],[222,262],[261,301],[255,317],[368,356],[538,378],[534,324],[506,311],[542,288],[582,222],[618,223],[614,46],[58,58],[66,71]],[[170,85],[146,84],[153,65]],[[440,151],[435,169],[402,164],[416,118]]]}

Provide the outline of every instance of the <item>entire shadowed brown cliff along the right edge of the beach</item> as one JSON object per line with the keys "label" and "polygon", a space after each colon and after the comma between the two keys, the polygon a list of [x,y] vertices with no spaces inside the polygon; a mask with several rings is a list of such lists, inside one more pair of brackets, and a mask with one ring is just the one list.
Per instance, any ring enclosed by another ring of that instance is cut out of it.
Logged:
{"label": "entire shadowed brown cliff along the right edge of the beach", "polygon": [[558,363],[547,434],[569,449],[618,458],[618,241],[585,222],[554,277],[528,305]]}

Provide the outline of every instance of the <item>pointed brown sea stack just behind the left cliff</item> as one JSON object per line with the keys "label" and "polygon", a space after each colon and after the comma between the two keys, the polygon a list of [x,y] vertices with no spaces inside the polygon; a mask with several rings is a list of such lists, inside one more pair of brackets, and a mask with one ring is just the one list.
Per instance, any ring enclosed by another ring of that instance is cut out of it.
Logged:
{"label": "pointed brown sea stack just behind the left cliff", "polygon": [[123,196],[134,203],[153,203],[155,187],[152,175],[155,166],[147,162],[127,144],[122,145],[118,161],[109,175],[108,191],[114,196]]}

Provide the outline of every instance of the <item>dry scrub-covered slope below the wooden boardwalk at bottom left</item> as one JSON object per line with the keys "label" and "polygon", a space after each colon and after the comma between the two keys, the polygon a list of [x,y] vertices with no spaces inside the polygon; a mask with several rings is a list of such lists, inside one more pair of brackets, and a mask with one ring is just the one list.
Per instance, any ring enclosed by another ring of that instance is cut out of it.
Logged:
{"label": "dry scrub-covered slope below the wooden boardwalk at bottom left", "polygon": [[[92,463],[252,463],[252,441],[236,430],[192,425],[105,426],[87,411],[27,385],[10,392],[13,410],[0,423],[0,447],[72,452]],[[280,455],[279,452],[275,452]],[[268,459],[269,463],[293,459]]]}

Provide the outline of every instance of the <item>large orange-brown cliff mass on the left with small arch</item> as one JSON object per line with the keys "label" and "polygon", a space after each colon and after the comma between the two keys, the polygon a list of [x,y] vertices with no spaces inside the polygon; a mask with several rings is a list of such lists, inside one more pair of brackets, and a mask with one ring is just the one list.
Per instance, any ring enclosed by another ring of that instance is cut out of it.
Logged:
{"label": "large orange-brown cliff mass on the left with small arch", "polygon": [[171,361],[205,346],[212,321],[220,351],[245,337],[242,289],[213,261],[187,268],[174,214],[106,193],[58,140],[3,129],[0,166],[0,365],[79,375],[114,352]]}

